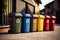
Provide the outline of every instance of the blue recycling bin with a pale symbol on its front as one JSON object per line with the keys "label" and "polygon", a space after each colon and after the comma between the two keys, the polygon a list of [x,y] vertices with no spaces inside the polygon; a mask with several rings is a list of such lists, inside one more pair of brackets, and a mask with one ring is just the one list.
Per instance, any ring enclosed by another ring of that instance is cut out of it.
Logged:
{"label": "blue recycling bin with a pale symbol on its front", "polygon": [[30,31],[30,19],[31,19],[31,15],[30,14],[22,14],[23,18],[22,18],[22,32],[26,33]]}

